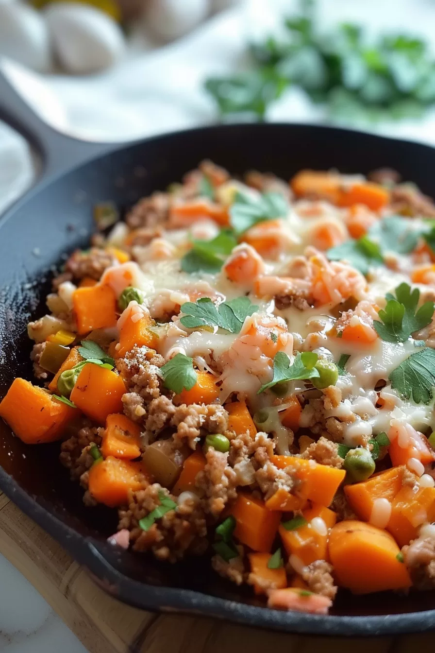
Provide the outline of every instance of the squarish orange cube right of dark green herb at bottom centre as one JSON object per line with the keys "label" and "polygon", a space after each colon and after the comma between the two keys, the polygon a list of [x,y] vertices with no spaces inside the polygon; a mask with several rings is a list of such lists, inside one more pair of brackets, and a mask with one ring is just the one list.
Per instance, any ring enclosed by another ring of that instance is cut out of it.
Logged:
{"label": "squarish orange cube right of dark green herb at bottom centre", "polygon": [[271,550],[281,513],[267,510],[262,500],[239,492],[231,514],[237,522],[234,537],[254,551],[268,553]]}

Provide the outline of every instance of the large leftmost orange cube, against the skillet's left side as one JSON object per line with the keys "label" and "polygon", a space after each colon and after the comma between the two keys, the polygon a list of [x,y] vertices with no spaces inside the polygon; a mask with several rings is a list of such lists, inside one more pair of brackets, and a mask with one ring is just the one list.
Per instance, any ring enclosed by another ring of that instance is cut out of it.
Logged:
{"label": "large leftmost orange cube, against the skillet's left side", "polygon": [[26,444],[53,442],[78,411],[25,379],[14,379],[0,403],[0,417]]}

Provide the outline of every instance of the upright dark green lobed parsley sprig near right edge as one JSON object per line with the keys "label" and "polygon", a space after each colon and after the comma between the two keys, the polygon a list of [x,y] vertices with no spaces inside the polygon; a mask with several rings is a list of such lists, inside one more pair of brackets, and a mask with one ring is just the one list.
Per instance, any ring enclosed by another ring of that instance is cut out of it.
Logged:
{"label": "upright dark green lobed parsley sprig near right edge", "polygon": [[386,342],[405,342],[414,331],[430,324],[434,314],[434,302],[425,302],[415,312],[420,298],[420,291],[408,283],[400,283],[395,289],[396,295],[388,293],[385,310],[379,311],[382,322],[374,321],[373,327],[378,336]]}

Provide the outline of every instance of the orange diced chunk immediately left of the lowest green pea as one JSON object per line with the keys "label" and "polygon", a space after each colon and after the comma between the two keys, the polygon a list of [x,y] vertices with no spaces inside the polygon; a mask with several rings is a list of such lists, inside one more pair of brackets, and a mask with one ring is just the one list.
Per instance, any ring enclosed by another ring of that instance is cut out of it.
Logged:
{"label": "orange diced chunk immediately left of the lowest green pea", "polygon": [[288,466],[293,467],[297,479],[301,481],[297,494],[325,506],[332,502],[338,486],[346,476],[344,470],[337,470],[335,467],[320,465],[312,460],[295,456],[273,455],[271,462],[281,470]]}

